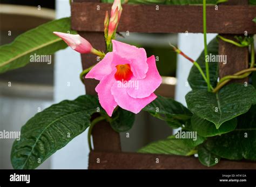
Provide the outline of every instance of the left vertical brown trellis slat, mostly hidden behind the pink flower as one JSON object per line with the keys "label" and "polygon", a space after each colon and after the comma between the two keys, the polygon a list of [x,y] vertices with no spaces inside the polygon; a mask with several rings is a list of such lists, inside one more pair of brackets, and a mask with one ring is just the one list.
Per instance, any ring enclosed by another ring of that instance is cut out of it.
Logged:
{"label": "left vertical brown trellis slat, mostly hidden behind the pink flower", "polygon": [[[80,36],[86,38],[98,50],[105,51],[104,34],[101,32],[79,32]],[[82,54],[83,70],[97,63],[93,54]],[[96,95],[95,87],[99,81],[85,79],[86,94]],[[93,116],[96,117],[96,116]],[[102,121],[96,124],[92,130],[93,147],[98,151],[121,151],[120,135],[116,133],[110,124]]]}

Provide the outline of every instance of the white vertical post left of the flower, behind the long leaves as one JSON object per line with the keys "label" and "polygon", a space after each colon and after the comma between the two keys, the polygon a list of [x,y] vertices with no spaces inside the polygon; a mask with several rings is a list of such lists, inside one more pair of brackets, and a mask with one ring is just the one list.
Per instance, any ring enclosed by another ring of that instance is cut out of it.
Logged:
{"label": "white vertical post left of the flower, behind the long leaves", "polygon": [[[56,0],[56,16],[57,19],[70,16],[68,0]],[[55,58],[55,102],[73,100],[85,94],[84,85],[79,79],[79,74],[82,72],[80,54],[67,48],[57,52]],[[51,168],[87,169],[88,154],[87,131],[85,131],[51,157]]]}

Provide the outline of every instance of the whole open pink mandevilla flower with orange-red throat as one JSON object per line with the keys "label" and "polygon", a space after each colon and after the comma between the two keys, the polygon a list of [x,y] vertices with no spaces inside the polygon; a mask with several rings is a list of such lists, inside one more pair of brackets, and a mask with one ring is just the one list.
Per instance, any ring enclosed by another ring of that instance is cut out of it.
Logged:
{"label": "whole open pink mandevilla flower with orange-red throat", "polygon": [[154,56],[147,58],[143,48],[112,40],[113,52],[106,54],[85,78],[99,80],[96,92],[100,105],[109,116],[120,106],[139,113],[157,96],[161,84]]}

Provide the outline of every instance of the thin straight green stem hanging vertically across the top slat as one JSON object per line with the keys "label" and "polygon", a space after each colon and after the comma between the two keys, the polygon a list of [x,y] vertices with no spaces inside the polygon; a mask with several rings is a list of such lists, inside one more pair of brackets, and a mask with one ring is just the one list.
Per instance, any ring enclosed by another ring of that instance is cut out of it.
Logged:
{"label": "thin straight green stem hanging vertically across the top slat", "polygon": [[207,61],[207,37],[206,37],[206,0],[203,0],[203,23],[204,23],[204,45],[205,45],[205,70],[206,70],[206,79],[207,79],[207,88],[208,92],[211,91],[211,86],[210,86],[210,74],[209,74],[209,64]]}

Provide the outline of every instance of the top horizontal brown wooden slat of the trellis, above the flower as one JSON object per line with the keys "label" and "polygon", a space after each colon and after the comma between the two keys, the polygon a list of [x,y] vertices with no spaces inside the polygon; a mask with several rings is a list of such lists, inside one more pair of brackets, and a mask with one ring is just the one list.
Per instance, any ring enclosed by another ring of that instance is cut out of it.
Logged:
{"label": "top horizontal brown wooden slat of the trellis, above the flower", "polygon": [[[97,10],[99,5],[100,10]],[[72,29],[78,31],[103,31],[105,12],[111,4],[75,2],[71,5]],[[207,32],[242,34],[256,33],[256,6],[207,6]],[[203,7],[196,5],[123,5],[119,32],[179,33],[203,32]]]}

